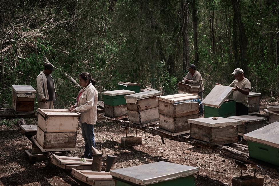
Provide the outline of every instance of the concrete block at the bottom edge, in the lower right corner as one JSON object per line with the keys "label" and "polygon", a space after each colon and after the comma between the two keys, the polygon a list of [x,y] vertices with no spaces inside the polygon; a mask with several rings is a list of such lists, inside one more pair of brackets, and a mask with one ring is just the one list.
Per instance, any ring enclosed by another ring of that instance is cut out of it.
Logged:
{"label": "concrete block at the bottom edge, in the lower right corner", "polygon": [[264,178],[260,176],[239,176],[232,178],[232,186],[263,186]]}

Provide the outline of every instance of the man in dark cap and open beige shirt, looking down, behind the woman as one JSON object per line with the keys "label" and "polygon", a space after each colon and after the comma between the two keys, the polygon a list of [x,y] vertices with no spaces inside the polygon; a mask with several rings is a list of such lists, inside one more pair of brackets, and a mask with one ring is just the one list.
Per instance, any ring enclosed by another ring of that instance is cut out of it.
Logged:
{"label": "man in dark cap and open beige shirt, looking down, behind the woman", "polygon": [[37,76],[37,100],[39,108],[54,109],[53,101],[56,98],[55,84],[51,76],[51,64],[45,65],[45,70]]}

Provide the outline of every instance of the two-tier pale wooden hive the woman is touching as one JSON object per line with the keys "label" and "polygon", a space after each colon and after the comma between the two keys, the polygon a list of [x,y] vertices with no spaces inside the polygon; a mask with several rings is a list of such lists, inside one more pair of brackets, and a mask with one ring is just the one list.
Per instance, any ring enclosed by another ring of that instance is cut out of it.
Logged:
{"label": "two-tier pale wooden hive the woman is touching", "polygon": [[38,108],[36,145],[43,152],[74,150],[80,113]]}

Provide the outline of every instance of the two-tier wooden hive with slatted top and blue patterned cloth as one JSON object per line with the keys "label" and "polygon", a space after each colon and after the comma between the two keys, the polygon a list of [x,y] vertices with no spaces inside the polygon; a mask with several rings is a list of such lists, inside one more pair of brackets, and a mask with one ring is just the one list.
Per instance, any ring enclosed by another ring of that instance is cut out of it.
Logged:
{"label": "two-tier wooden hive with slatted top and blue patterned cloth", "polygon": [[199,99],[193,94],[161,96],[159,104],[159,127],[172,133],[190,130],[188,119],[199,118],[199,103],[189,100]]}

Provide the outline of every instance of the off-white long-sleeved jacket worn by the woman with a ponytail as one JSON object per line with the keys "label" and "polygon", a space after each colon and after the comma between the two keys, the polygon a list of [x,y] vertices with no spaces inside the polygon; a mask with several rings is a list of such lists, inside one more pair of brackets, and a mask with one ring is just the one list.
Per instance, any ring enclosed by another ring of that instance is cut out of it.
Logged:
{"label": "off-white long-sleeved jacket worn by the woman with a ponytail", "polygon": [[[97,121],[97,104],[98,104],[98,91],[89,83],[89,85],[79,91],[82,95],[79,97],[79,101],[75,103],[75,111],[80,112],[80,122],[87,124],[96,124]],[[79,94],[77,94],[79,95]]]}

